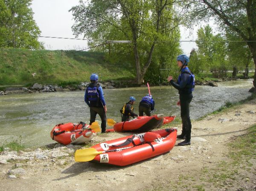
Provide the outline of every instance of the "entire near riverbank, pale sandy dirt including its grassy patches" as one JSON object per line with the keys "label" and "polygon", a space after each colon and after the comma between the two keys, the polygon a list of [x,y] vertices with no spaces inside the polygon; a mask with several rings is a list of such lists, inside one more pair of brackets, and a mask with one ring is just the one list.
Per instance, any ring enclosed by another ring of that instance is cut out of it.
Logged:
{"label": "entire near riverbank, pale sandy dirt including its grassy patches", "polygon": [[[181,126],[177,128],[180,133]],[[179,147],[177,140],[167,154],[122,168],[74,162],[76,149],[129,134],[99,134],[84,146],[56,143],[18,152],[3,148],[0,191],[256,189],[255,98],[192,121],[192,145]]]}

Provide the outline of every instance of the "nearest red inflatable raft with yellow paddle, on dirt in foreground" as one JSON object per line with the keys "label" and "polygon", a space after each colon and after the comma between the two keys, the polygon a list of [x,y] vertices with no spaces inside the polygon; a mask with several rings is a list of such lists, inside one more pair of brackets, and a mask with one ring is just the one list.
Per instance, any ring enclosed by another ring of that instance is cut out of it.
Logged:
{"label": "nearest red inflatable raft with yellow paddle, on dirt in foreground", "polygon": [[175,128],[134,134],[79,149],[75,153],[75,160],[126,166],[169,152],[175,145],[176,137]]}

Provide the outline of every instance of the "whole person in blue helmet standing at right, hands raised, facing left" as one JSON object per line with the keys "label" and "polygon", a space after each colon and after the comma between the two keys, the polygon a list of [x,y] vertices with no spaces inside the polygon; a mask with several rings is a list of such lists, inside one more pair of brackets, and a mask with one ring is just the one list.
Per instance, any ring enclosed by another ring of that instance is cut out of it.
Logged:
{"label": "whole person in blue helmet standing at right, hands raised, facing left", "polygon": [[192,91],[195,88],[195,75],[188,68],[189,57],[185,54],[177,56],[177,65],[180,68],[180,75],[177,83],[174,82],[172,76],[167,80],[175,87],[180,94],[180,100],[177,105],[180,105],[180,117],[182,119],[182,133],[177,138],[185,139],[178,143],[179,146],[191,144],[191,120],[189,117],[189,104],[192,101]]}

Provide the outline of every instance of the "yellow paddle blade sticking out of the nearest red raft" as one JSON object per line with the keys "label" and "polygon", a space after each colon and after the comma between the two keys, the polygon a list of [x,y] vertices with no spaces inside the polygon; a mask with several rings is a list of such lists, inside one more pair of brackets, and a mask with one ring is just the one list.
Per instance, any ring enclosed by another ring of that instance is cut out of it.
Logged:
{"label": "yellow paddle blade sticking out of the nearest red raft", "polygon": [[97,151],[95,148],[85,148],[76,150],[75,161],[87,162],[93,160],[98,154],[102,154],[104,151]]}

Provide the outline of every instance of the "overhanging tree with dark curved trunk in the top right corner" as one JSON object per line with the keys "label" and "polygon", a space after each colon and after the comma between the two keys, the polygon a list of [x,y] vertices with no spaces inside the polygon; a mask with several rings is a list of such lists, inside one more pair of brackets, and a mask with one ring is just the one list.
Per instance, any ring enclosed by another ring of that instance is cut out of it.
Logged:
{"label": "overhanging tree with dark curved trunk in the top right corner", "polygon": [[[189,0],[189,3],[192,1]],[[208,20],[214,17],[222,28],[228,27],[247,46],[256,68],[256,0],[195,0],[192,17]],[[256,70],[254,72],[256,92]]]}

